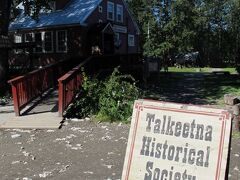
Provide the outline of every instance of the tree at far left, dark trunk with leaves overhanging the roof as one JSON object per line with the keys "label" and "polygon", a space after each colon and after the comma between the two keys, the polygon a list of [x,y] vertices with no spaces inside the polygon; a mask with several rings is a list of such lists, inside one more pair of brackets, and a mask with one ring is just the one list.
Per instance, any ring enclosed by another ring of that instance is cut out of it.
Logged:
{"label": "tree at far left, dark trunk with leaves overhanging the roof", "polygon": [[[0,37],[8,36],[10,13],[13,6],[22,2],[25,13],[37,19],[42,7],[49,8],[50,0],[0,0]],[[0,93],[4,93],[8,79],[8,50],[0,48]]]}

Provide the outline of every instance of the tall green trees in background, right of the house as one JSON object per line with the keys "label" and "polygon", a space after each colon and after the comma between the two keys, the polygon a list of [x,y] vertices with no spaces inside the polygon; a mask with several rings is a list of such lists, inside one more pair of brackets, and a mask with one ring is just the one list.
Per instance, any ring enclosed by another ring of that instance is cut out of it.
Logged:
{"label": "tall green trees in background, right of the house", "polygon": [[239,0],[134,0],[130,7],[145,55],[199,51],[205,65],[240,64]]}

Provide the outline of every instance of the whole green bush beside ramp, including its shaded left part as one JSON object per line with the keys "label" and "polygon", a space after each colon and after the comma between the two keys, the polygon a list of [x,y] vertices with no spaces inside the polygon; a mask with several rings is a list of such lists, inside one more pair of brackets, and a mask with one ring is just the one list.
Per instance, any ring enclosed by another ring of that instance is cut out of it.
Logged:
{"label": "whole green bush beside ramp, including its shaded left part", "polygon": [[133,77],[122,75],[118,68],[104,81],[84,76],[83,88],[68,108],[66,117],[96,115],[101,121],[126,121],[139,94]]}

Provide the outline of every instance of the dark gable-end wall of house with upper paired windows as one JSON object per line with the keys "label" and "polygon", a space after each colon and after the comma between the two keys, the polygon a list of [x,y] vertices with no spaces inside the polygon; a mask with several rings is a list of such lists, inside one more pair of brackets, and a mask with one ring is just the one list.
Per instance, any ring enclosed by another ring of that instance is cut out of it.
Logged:
{"label": "dark gable-end wall of house with upper paired windows", "polygon": [[[107,2],[113,2],[114,3],[114,15],[115,15],[115,20],[108,20],[107,19]],[[123,6],[123,22],[117,22],[116,21],[116,8],[117,4],[120,4]],[[102,12],[99,12],[99,6],[102,7]],[[115,53],[119,54],[126,54],[126,53],[137,53],[140,51],[139,48],[139,35],[137,34],[137,29],[134,26],[134,22],[132,18],[130,17],[131,15],[129,14],[128,10],[124,6],[124,3],[122,0],[103,0],[102,3],[100,3],[95,11],[88,17],[86,20],[86,23],[91,25],[96,22],[99,22],[99,20],[102,21],[102,23],[107,23],[110,22],[112,26],[120,26],[124,27],[127,29],[126,33],[119,33],[119,38],[121,40],[121,45],[120,47],[115,47]],[[135,39],[135,46],[131,47],[128,46],[128,35],[134,35]]]}

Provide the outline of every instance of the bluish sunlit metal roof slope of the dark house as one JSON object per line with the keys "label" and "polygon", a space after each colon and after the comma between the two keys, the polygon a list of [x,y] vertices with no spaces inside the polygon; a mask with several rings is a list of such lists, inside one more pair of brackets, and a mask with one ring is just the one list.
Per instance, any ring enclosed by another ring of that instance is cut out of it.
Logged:
{"label": "bluish sunlit metal roof slope of the dark house", "polygon": [[[88,16],[102,0],[71,0],[64,9],[51,13],[41,13],[38,21],[24,14],[24,11],[9,26],[10,31],[33,29],[66,24],[83,25]],[[19,6],[22,8],[22,6]]]}

